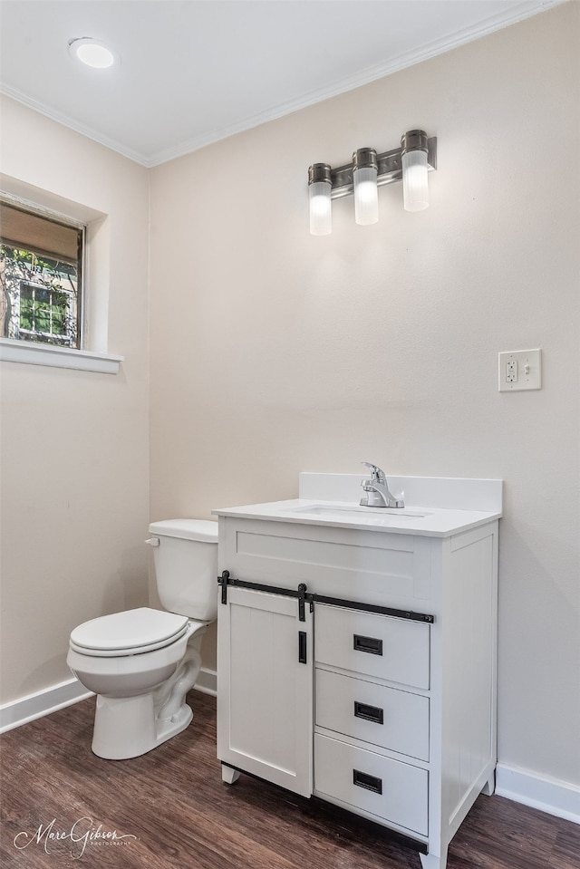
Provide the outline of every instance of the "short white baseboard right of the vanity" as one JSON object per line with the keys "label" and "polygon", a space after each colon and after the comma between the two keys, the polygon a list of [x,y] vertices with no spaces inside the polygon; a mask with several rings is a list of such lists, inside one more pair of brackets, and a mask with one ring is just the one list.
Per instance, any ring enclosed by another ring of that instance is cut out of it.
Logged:
{"label": "short white baseboard right of the vanity", "polygon": [[498,763],[496,794],[580,824],[580,787]]}

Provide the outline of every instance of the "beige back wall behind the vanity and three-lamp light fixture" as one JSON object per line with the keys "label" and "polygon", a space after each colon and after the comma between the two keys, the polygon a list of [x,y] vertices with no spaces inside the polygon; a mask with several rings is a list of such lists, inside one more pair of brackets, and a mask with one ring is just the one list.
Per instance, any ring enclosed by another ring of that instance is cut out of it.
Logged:
{"label": "beige back wall behind the vanity and three-lamp light fixture", "polygon": [[[300,470],[504,478],[499,756],[580,784],[578,33],[566,4],[151,171],[151,518]],[[438,136],[431,207],[310,237],[306,170]],[[542,391],[498,393],[541,346]],[[212,642],[204,646],[214,661]]]}

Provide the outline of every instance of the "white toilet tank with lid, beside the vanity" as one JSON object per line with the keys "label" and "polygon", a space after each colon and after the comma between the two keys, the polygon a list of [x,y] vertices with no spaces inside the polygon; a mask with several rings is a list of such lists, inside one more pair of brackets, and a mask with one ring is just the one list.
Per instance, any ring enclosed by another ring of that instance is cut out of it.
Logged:
{"label": "white toilet tank with lid, beside the vanity", "polygon": [[[218,523],[164,519],[149,526],[160,602],[199,622],[218,617]],[[159,540],[159,546],[156,541]]]}

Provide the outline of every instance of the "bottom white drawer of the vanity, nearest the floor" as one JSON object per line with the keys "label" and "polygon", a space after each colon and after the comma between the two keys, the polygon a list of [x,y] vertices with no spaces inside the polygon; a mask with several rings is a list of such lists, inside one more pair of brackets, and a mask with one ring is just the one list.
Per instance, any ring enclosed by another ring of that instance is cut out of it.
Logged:
{"label": "bottom white drawer of the vanity, nearest the floor", "polygon": [[428,835],[429,773],[337,739],[314,736],[314,788],[349,806]]}

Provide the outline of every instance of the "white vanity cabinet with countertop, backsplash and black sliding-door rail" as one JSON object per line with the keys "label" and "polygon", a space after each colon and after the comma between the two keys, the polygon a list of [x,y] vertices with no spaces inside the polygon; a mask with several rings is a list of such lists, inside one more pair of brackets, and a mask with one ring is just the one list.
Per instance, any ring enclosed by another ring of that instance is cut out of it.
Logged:
{"label": "white vanity cabinet with countertop, backsplash and black sliding-door rail", "polygon": [[404,835],[425,869],[496,767],[501,481],[301,474],[219,509],[218,758]]}

